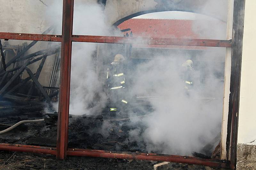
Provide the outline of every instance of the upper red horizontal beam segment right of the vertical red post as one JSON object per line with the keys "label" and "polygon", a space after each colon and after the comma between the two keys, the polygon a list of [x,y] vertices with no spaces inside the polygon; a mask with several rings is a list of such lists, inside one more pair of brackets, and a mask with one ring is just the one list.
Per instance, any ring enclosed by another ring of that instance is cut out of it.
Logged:
{"label": "upper red horizontal beam segment right of the vertical red post", "polygon": [[72,41],[116,43],[116,44],[232,47],[231,40],[216,40],[216,39],[172,39],[172,38],[147,38],[147,37],[136,38],[136,37],[73,35]]}

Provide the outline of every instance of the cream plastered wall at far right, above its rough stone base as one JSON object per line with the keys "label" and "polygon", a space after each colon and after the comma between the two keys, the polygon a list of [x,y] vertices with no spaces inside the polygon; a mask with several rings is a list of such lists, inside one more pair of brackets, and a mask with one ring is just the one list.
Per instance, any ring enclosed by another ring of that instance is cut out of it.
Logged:
{"label": "cream plastered wall at far right, above its rough stone base", "polygon": [[248,143],[256,138],[255,7],[255,0],[245,1],[244,39],[237,139],[238,143]]}

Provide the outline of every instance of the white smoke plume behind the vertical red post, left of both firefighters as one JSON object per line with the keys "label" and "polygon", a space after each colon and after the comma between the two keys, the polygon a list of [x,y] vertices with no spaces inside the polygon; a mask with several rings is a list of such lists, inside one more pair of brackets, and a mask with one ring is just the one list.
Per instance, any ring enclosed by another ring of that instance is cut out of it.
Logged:
{"label": "white smoke plume behind the vertical red post, left of both firefighters", "polygon": [[[51,5],[48,15],[54,16],[52,24],[61,30],[60,1]],[[94,0],[76,0],[74,3],[73,34],[107,35],[109,29],[104,24],[103,6]],[[57,19],[59,18],[59,20]],[[73,115],[96,114],[104,108],[106,94],[102,91],[97,66],[95,65],[96,43],[73,43],[71,59],[71,87],[69,113]],[[98,100],[100,98],[100,100]],[[57,104],[55,104],[57,106]]]}

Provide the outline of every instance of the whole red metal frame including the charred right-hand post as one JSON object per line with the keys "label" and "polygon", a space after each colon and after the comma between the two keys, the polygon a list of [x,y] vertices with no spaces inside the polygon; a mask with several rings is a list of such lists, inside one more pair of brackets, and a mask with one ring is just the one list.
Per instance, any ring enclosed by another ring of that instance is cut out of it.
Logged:
{"label": "whole red metal frame including the charred right-hand post", "polygon": [[[0,150],[34,152],[56,155],[57,159],[65,159],[67,155],[72,156],[92,156],[104,158],[120,159],[141,159],[158,160],[178,163],[198,164],[204,166],[218,166],[235,169],[236,167],[236,145],[238,127],[239,108],[239,86],[241,76],[242,39],[244,25],[245,0],[234,0],[233,14],[233,37],[232,40],[212,40],[212,39],[169,39],[169,38],[141,38],[138,42],[133,37],[114,36],[88,36],[72,35],[73,30],[73,10],[74,0],[63,0],[62,14],[62,35],[48,34],[25,34],[0,32],[0,39],[36,40],[36,41],[56,41],[61,42],[61,65],[60,65],[60,95],[59,95],[59,115],[57,125],[57,146],[56,148],[16,145],[0,143]],[[155,153],[134,153],[117,152],[89,149],[68,148],[68,115],[70,96],[70,72],[71,72],[71,50],[72,42],[94,42],[94,43],[117,43],[117,44],[156,44],[156,45],[179,45],[179,46],[212,46],[231,47],[231,81],[229,96],[228,114],[228,135],[227,154],[229,146],[231,156],[229,160],[201,159],[189,156],[163,155]],[[231,138],[231,144],[230,144]]]}

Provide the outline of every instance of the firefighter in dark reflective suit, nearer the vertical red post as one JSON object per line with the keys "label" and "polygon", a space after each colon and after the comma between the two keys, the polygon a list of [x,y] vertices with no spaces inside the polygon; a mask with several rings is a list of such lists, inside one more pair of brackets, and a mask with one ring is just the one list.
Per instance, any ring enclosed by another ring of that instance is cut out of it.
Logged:
{"label": "firefighter in dark reflective suit, nearer the vertical red post", "polygon": [[112,115],[117,111],[125,111],[129,103],[127,96],[126,82],[124,77],[124,56],[116,54],[114,61],[110,64],[107,70],[107,89],[108,89],[108,106]]}

